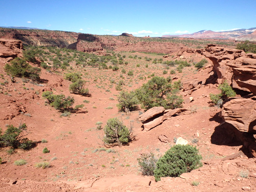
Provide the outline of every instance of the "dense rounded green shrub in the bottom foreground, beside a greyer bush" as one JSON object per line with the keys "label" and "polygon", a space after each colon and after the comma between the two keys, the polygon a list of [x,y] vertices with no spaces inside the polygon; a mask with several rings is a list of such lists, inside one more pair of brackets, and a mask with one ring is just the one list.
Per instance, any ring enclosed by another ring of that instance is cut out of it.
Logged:
{"label": "dense rounded green shrub in the bottom foreground, beside a greyer bush", "polygon": [[179,177],[183,173],[202,166],[202,156],[198,149],[191,145],[174,145],[158,161],[154,176],[156,181],[161,177]]}

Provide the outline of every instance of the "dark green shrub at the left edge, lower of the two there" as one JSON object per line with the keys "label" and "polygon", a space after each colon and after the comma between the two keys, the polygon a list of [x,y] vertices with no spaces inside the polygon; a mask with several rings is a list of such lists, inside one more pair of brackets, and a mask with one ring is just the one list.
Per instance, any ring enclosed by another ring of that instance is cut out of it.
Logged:
{"label": "dark green shrub at the left edge, lower of the two there", "polygon": [[23,138],[26,129],[27,125],[25,123],[20,124],[18,127],[8,125],[5,133],[0,135],[0,146],[11,146],[14,149],[22,148],[23,150],[30,150],[30,148],[35,146],[35,142],[28,138]]}

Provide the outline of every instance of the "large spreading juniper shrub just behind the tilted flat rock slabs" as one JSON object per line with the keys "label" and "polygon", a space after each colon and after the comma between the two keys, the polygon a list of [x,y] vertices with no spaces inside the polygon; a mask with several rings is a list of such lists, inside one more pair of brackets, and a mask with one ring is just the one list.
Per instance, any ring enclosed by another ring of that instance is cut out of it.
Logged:
{"label": "large spreading juniper shrub just behind the tilted flat rock slabs", "polygon": [[182,106],[182,97],[177,95],[179,84],[174,86],[164,77],[153,77],[142,87],[135,90],[136,96],[143,107],[148,110],[154,106],[175,109]]}

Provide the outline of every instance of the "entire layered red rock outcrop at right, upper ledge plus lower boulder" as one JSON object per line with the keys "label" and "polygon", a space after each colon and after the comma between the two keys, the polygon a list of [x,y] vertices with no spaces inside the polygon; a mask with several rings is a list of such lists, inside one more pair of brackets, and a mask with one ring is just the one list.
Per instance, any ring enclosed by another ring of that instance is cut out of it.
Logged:
{"label": "entire layered red rock outcrop at right, upper ledge plus lower boulder", "polygon": [[220,117],[224,129],[230,131],[230,125],[234,127],[230,135],[235,135],[242,141],[245,151],[256,157],[256,54],[215,45],[197,51],[212,61],[212,74],[208,83],[226,81],[245,95],[226,100]]}

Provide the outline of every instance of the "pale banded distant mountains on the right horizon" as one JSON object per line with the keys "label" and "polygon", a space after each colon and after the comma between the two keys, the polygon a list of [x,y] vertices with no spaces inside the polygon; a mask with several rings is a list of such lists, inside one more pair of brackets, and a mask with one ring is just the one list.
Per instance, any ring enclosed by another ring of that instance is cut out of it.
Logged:
{"label": "pale banded distant mountains on the right horizon", "polygon": [[250,29],[237,29],[233,31],[215,32],[211,30],[201,30],[192,34],[184,35],[163,35],[165,38],[185,37],[185,38],[207,38],[207,39],[234,39],[256,41],[256,27]]}

